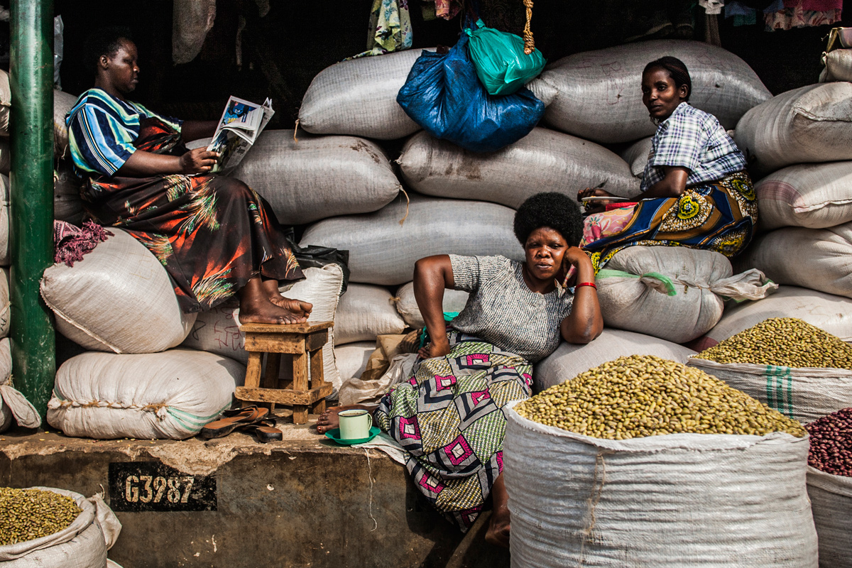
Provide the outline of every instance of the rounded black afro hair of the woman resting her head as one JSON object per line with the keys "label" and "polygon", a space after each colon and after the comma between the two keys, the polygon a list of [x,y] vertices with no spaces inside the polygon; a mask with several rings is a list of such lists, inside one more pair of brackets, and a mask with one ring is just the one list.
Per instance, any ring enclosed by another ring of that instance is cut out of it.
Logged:
{"label": "rounded black afro hair of the woman resting her head", "polygon": [[515,212],[515,237],[521,246],[526,246],[530,233],[541,227],[558,231],[569,246],[577,246],[583,237],[580,209],[564,193],[536,193]]}

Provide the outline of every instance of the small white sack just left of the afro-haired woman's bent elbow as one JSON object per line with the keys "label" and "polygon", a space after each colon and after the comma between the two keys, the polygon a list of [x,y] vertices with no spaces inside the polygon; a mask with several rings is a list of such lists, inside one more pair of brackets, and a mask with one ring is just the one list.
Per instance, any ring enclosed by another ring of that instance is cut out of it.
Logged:
{"label": "small white sack just left of the afro-haired woman's bent elbow", "polygon": [[396,311],[387,288],[349,284],[334,314],[334,344],[376,341],[376,336],[399,334],[406,322]]}

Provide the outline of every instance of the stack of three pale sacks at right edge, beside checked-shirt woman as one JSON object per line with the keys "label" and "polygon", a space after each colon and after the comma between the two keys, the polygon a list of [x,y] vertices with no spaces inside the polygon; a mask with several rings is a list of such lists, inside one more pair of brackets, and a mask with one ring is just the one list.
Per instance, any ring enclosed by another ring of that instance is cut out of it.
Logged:
{"label": "stack of three pale sacks at right edge, beside checked-shirt woman", "polygon": [[852,83],[793,89],[747,112],[759,235],[737,259],[779,284],[852,298]]}

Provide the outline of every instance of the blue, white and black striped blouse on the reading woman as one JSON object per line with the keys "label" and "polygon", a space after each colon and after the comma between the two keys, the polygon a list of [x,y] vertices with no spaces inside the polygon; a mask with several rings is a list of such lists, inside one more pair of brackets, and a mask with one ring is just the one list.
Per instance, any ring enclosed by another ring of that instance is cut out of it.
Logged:
{"label": "blue, white and black striped blouse on the reading woman", "polygon": [[119,100],[101,89],[80,95],[65,118],[78,173],[114,175],[136,150],[140,119],[149,117],[181,131],[181,120],[151,112],[138,102]]}

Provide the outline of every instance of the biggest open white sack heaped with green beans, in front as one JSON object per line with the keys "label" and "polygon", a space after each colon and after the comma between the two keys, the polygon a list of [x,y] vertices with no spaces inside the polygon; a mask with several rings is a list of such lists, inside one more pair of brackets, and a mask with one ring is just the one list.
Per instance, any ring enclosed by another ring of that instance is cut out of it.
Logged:
{"label": "biggest open white sack heaped with green beans, in front", "polygon": [[507,409],[514,568],[815,568],[804,428],[700,370],[617,359]]}

